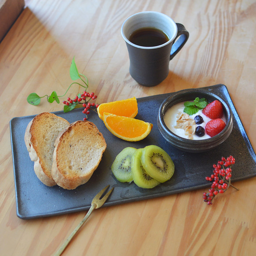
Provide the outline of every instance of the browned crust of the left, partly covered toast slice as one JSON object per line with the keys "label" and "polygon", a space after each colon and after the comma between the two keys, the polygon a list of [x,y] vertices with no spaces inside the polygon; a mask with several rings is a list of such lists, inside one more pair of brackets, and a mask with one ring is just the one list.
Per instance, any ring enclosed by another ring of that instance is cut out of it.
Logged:
{"label": "browned crust of the left, partly covered toast slice", "polygon": [[[66,123],[66,126],[69,125],[69,122],[57,115],[54,115],[52,113],[48,112],[43,112],[39,115],[36,115],[28,124],[26,130],[25,130],[25,136],[24,136],[24,141],[26,148],[29,152],[29,157],[31,161],[34,162],[34,171],[36,173],[36,176],[39,178],[43,184],[51,187],[56,185],[56,182],[54,179],[51,177],[51,168],[50,170],[45,166],[44,160],[42,159],[42,156],[38,152],[38,141],[39,138],[37,137],[36,134],[36,129],[39,129],[38,125],[40,123],[40,119],[44,119],[46,117],[53,117],[57,118],[58,120],[61,120],[61,122]],[[57,136],[57,134],[56,134]],[[40,146],[40,145],[39,145]],[[53,150],[53,149],[52,149]]]}

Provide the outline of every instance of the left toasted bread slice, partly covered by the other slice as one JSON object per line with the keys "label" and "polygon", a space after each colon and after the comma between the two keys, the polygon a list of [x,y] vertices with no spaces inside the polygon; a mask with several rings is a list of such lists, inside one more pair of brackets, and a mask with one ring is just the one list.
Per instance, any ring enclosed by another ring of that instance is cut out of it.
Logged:
{"label": "left toasted bread slice, partly covered by the other slice", "polygon": [[51,176],[54,141],[58,134],[69,126],[69,122],[52,113],[43,112],[36,115],[25,131],[25,144],[29,157],[34,162],[36,176],[47,186],[56,182]]}

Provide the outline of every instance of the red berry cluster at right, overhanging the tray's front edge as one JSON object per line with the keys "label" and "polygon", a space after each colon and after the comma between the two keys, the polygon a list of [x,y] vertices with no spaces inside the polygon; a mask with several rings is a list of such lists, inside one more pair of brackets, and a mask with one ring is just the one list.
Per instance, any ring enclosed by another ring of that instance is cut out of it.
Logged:
{"label": "red berry cluster at right, overhanging the tray's front edge", "polygon": [[[206,177],[206,180],[213,181],[209,193],[203,193],[204,202],[208,205],[213,204],[213,198],[218,194],[224,193],[231,185],[231,166],[235,163],[235,159],[232,155],[225,159],[224,157],[218,161],[218,164],[213,165],[213,174],[210,177]],[[234,187],[233,185],[231,185]],[[238,190],[238,188],[234,187]]]}

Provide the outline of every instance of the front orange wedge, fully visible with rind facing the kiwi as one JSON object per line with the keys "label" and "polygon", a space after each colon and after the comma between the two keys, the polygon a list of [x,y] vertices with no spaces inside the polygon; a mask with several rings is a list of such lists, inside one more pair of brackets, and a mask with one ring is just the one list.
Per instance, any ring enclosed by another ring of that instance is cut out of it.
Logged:
{"label": "front orange wedge, fully visible with rind facing the kiwi", "polygon": [[141,141],[151,132],[153,125],[142,120],[104,113],[104,123],[116,137],[125,141]]}

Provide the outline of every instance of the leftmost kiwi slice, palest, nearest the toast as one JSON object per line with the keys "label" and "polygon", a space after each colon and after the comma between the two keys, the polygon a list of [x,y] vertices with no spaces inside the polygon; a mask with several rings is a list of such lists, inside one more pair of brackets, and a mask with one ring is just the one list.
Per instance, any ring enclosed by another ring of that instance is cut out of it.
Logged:
{"label": "leftmost kiwi slice, palest, nearest the toast", "polygon": [[115,178],[120,182],[131,182],[133,176],[131,172],[131,160],[132,155],[136,151],[136,148],[128,147],[124,148],[115,158],[111,166],[112,173]]}

